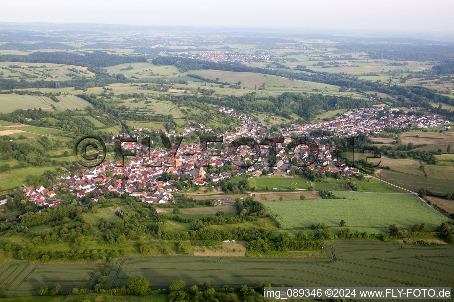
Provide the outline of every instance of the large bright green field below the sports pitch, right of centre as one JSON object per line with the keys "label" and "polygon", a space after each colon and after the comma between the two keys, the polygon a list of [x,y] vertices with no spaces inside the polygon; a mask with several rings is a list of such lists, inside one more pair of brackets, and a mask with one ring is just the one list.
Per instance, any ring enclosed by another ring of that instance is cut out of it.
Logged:
{"label": "large bright green field below the sports pitch, right of centre", "polygon": [[347,199],[268,202],[265,206],[284,229],[323,222],[328,226],[340,226],[339,222],[345,220],[347,226],[355,227],[387,227],[395,223],[408,228],[424,222],[427,230],[436,230],[441,222],[449,221],[414,194],[334,194]]}

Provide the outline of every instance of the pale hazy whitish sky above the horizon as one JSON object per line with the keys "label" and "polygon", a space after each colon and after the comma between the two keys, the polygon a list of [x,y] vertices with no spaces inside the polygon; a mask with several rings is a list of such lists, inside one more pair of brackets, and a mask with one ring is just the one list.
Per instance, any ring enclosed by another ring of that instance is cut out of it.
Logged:
{"label": "pale hazy whitish sky above the horizon", "polygon": [[453,30],[453,0],[20,0],[0,21]]}

